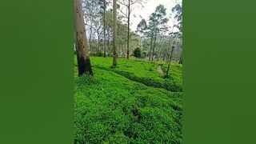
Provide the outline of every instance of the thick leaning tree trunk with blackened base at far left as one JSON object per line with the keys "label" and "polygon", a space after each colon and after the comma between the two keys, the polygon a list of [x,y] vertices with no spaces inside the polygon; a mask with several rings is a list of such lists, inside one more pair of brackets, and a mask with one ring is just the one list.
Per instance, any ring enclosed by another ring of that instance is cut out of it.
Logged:
{"label": "thick leaning tree trunk with blackened base at far left", "polygon": [[93,71],[90,66],[89,45],[86,38],[86,28],[81,0],[74,0],[74,32],[75,48],[78,58],[78,75],[81,76],[86,73],[93,75]]}

